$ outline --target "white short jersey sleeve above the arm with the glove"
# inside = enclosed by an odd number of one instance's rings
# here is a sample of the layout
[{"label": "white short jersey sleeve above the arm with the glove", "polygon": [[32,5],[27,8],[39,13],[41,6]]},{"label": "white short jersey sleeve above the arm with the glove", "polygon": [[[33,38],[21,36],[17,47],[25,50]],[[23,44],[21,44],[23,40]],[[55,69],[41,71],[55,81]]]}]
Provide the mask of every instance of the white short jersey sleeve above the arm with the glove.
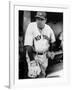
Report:
[{"label": "white short jersey sleeve above the arm with the glove", "polygon": [[25,40],[24,40],[24,46],[26,45],[33,45],[33,31],[32,31],[32,25],[29,24],[28,28],[25,33]]}]

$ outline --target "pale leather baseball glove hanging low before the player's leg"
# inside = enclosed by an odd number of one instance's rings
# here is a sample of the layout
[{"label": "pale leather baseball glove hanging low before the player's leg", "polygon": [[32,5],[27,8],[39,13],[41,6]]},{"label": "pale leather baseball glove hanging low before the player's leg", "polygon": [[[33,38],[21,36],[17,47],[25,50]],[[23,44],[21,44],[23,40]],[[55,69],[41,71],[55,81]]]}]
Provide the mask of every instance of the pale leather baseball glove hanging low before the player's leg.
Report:
[{"label": "pale leather baseball glove hanging low before the player's leg", "polygon": [[39,64],[34,60],[34,61],[30,61],[29,65],[28,65],[28,76],[29,77],[37,77],[37,75],[39,75],[41,72],[40,66]]}]

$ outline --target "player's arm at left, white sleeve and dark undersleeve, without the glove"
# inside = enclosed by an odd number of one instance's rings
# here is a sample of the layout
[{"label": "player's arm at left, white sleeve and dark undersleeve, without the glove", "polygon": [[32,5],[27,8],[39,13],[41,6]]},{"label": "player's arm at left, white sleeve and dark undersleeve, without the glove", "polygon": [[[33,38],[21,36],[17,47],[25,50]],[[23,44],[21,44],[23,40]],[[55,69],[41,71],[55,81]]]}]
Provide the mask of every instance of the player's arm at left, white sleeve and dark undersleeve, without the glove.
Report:
[{"label": "player's arm at left, white sleeve and dark undersleeve, without the glove", "polygon": [[28,53],[28,56],[30,58],[30,60],[34,60],[34,57],[33,57],[33,31],[32,31],[32,25],[29,24],[28,25],[28,28],[26,30],[26,33],[25,33],[25,42],[24,42],[24,46],[26,48],[26,51]]}]

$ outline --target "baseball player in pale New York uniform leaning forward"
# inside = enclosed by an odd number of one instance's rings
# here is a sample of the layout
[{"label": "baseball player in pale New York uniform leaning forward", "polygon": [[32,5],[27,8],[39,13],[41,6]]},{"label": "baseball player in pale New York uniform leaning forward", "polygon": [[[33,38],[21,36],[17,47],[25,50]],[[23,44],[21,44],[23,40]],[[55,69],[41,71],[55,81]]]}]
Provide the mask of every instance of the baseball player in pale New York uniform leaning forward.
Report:
[{"label": "baseball player in pale New York uniform leaning forward", "polygon": [[28,25],[24,42],[27,52],[28,76],[33,78],[41,73],[45,76],[45,70],[48,66],[49,43],[55,42],[54,32],[46,24],[46,13],[37,12],[35,17],[36,22]]}]

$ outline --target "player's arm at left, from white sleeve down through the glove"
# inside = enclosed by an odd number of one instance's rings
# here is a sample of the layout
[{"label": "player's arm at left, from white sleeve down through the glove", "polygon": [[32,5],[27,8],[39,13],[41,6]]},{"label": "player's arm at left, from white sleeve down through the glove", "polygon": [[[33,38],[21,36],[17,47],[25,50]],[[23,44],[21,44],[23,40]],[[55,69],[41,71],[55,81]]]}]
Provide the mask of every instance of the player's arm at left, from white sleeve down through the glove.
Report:
[{"label": "player's arm at left, from white sleeve down through the glove", "polygon": [[40,67],[36,64],[33,55],[33,25],[29,24],[26,34],[24,46],[26,47],[26,52],[28,54],[29,60],[28,63],[28,77],[37,77],[40,73]]}]

